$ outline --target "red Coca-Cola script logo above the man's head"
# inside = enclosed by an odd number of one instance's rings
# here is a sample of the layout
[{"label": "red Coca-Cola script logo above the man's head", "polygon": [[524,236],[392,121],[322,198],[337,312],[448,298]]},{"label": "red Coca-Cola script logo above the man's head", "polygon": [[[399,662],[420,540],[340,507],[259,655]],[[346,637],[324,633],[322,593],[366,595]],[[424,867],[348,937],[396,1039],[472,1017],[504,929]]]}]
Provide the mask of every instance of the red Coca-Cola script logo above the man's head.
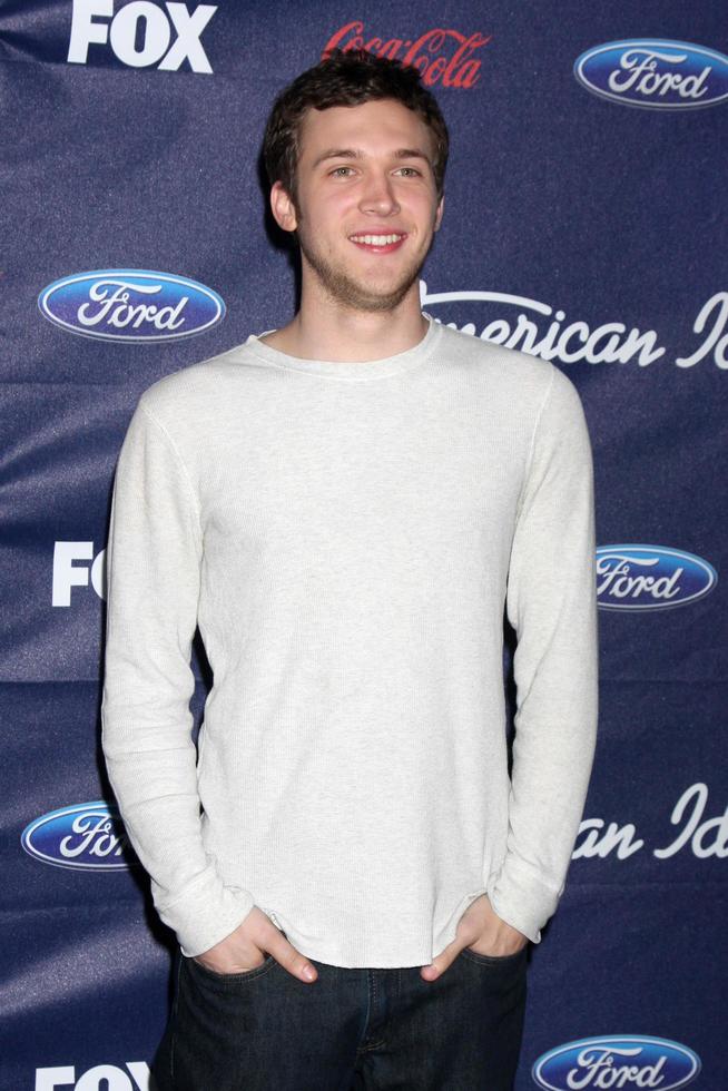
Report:
[{"label": "red Coca-Cola script logo above the man's head", "polygon": [[377,38],[364,29],[357,19],[340,27],[326,42],[322,60],[333,49],[364,49],[376,57],[412,65],[420,71],[422,82],[427,87],[441,83],[442,87],[471,88],[480,79],[482,61],[473,55],[486,46],[492,35],[475,31],[463,35],[459,30],[434,27],[417,38]]}]

